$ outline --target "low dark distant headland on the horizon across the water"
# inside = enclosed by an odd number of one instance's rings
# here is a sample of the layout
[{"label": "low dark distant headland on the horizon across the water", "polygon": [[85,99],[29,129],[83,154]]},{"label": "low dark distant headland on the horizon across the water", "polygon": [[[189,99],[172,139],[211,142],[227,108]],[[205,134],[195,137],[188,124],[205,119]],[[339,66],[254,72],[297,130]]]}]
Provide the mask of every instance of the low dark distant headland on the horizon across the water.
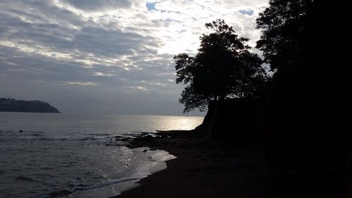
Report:
[{"label": "low dark distant headland on the horizon across the water", "polygon": [[24,101],[6,98],[0,98],[0,111],[60,113],[58,109],[44,101]]}]

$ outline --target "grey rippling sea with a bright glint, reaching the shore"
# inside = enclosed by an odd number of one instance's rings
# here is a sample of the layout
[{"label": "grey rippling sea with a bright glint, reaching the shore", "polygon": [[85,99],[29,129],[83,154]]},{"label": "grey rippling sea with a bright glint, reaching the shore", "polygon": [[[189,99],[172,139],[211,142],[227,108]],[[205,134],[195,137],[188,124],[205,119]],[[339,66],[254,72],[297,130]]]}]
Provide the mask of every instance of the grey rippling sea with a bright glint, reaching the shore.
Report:
[{"label": "grey rippling sea with a bright glint, reaching the shore", "polygon": [[[126,141],[203,117],[0,112],[0,197],[111,197],[175,156]],[[128,138],[129,137],[129,138]]]}]

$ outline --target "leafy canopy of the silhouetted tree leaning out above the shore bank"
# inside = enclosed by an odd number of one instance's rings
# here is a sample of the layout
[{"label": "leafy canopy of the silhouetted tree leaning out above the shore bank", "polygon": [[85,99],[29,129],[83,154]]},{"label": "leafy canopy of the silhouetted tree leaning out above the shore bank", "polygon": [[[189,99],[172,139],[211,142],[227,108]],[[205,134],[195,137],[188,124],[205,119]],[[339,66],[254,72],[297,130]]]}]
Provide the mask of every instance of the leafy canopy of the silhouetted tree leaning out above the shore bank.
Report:
[{"label": "leafy canopy of the silhouetted tree leaning out above the shore bank", "polygon": [[177,84],[187,85],[180,103],[184,112],[205,110],[210,101],[256,97],[265,81],[265,70],[257,54],[249,51],[248,38],[239,37],[224,20],[206,23],[212,30],[201,35],[196,56],[175,56]]}]

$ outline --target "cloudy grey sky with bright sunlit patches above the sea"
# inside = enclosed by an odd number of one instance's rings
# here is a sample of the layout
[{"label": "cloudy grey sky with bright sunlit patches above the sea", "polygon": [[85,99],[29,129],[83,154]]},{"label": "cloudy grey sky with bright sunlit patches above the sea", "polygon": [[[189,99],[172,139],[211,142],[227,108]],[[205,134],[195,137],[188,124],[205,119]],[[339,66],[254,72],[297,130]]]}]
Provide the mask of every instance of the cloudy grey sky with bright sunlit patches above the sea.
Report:
[{"label": "cloudy grey sky with bright sunlit patches above the sea", "polygon": [[[255,46],[266,0],[0,1],[0,97],[63,113],[182,115],[173,56],[224,19]],[[253,52],[260,54],[258,49]],[[189,115],[203,115],[199,111]]]}]

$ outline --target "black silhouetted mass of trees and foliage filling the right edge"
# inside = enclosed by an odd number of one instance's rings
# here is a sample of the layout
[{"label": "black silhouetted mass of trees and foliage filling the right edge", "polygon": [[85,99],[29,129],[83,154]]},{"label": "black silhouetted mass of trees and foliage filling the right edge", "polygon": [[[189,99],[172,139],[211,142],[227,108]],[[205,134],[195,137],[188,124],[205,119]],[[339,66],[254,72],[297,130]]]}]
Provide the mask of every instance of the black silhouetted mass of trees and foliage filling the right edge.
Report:
[{"label": "black silhouetted mass of trees and foliage filling the right edge", "polygon": [[352,197],[348,8],[270,0],[257,19],[257,47],[275,71],[266,97],[268,155],[286,180],[285,197]]}]

